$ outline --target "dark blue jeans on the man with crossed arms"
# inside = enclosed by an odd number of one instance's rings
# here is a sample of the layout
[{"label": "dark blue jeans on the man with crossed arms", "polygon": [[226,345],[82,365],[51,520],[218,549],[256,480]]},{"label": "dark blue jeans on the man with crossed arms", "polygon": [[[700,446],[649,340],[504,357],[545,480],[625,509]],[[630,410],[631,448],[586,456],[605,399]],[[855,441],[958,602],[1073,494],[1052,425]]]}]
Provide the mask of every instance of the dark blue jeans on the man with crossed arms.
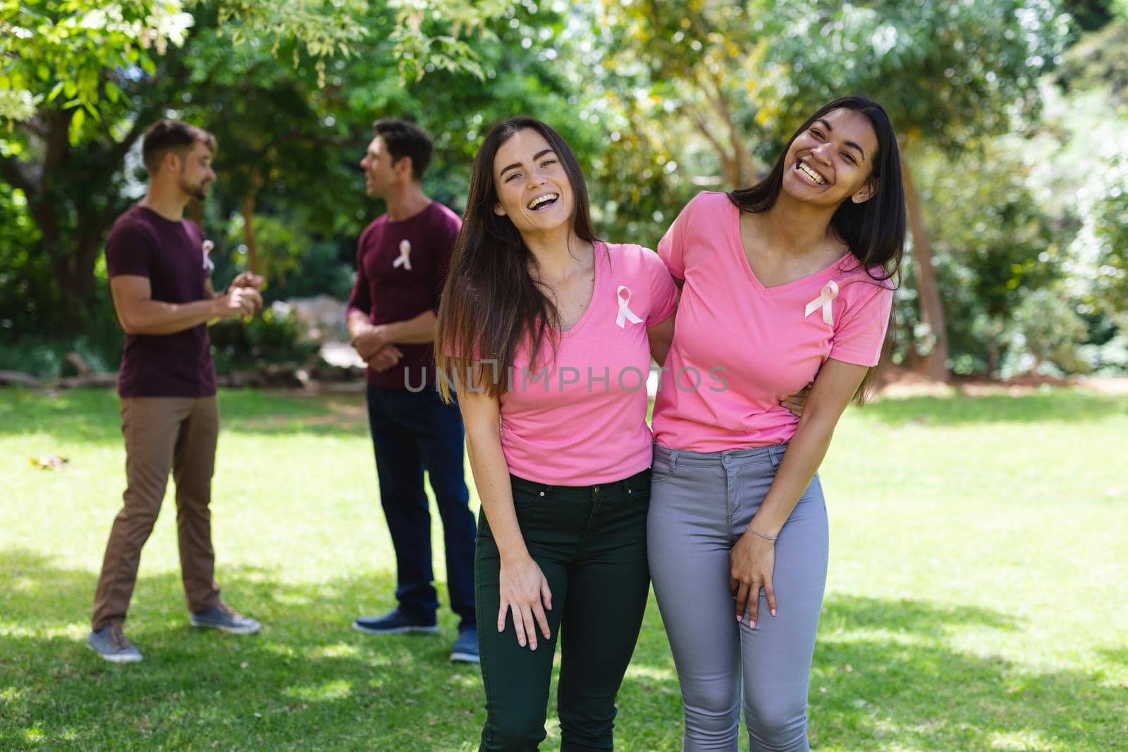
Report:
[{"label": "dark blue jeans on the man with crossed arms", "polygon": [[459,629],[475,625],[474,539],[462,463],[462,418],[433,388],[420,392],[368,386],[368,421],[376,452],[380,503],[396,549],[399,608],[433,621],[439,609],[431,568],[431,512],[426,470],[442,519],[450,608]]}]

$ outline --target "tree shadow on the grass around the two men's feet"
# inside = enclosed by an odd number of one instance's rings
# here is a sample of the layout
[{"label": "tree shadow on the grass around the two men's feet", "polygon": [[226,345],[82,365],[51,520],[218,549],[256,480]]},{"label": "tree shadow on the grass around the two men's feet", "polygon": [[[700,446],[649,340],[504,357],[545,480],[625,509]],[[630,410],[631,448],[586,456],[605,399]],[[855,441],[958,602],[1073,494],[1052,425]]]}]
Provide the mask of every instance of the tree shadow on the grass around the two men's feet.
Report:
[{"label": "tree shadow on the grass around the two men's feet", "polygon": [[282,585],[224,568],[224,600],[265,625],[235,637],[191,628],[179,575],[142,567],[126,634],[144,661],[115,665],[85,645],[95,573],[18,549],[0,572],[0,749],[459,750],[481,728],[449,611],[439,636],[352,629],[393,605],[386,573]]}]

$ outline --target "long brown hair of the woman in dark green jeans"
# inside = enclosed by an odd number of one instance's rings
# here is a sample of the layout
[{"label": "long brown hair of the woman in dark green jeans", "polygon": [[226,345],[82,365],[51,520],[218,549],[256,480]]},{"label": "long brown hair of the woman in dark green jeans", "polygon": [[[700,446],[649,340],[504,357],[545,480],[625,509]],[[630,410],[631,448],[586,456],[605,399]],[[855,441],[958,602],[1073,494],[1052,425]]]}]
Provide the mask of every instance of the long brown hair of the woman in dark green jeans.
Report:
[{"label": "long brown hair of the woman in dark green jeans", "polygon": [[[536,263],[532,251],[509,216],[494,212],[497,204],[494,157],[503,143],[525,129],[545,138],[567,174],[574,198],[572,229],[576,237],[588,242],[597,240],[583,170],[559,133],[526,116],[494,125],[474,158],[462,229],[455,240],[450,273],[439,303],[434,348],[440,372],[459,377],[475,373],[468,386],[482,387],[492,397],[505,391],[505,375],[522,338],[530,337],[529,357],[535,364],[546,335],[555,351],[556,342],[550,334],[559,328],[556,306],[529,274],[529,266]],[[492,374],[474,363],[487,359],[495,363]],[[443,399],[450,401],[449,382],[439,378],[438,386]]]}]

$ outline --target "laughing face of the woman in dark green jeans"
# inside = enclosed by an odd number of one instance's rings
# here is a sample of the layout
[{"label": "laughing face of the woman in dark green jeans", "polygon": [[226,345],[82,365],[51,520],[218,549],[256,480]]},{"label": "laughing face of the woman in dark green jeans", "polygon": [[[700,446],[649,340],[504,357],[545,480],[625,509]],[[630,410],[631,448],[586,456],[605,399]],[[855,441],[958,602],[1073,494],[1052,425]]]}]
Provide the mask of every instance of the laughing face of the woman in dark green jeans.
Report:
[{"label": "laughing face of the woman in dark green jeans", "polygon": [[572,222],[575,200],[564,166],[545,136],[521,129],[497,149],[493,163],[497,204],[522,235]]}]

